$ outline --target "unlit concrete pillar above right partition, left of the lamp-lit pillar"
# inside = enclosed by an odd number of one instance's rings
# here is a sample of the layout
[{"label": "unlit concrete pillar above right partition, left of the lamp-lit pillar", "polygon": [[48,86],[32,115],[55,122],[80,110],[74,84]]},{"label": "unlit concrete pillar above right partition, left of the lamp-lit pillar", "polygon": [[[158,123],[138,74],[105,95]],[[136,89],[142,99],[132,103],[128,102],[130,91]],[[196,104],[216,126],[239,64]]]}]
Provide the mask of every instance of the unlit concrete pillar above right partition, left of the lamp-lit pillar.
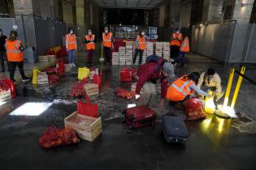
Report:
[{"label": "unlit concrete pillar above right partition, left of the lamp-lit pillar", "polygon": [[202,21],[219,21],[223,19],[223,0],[204,0]]}]

